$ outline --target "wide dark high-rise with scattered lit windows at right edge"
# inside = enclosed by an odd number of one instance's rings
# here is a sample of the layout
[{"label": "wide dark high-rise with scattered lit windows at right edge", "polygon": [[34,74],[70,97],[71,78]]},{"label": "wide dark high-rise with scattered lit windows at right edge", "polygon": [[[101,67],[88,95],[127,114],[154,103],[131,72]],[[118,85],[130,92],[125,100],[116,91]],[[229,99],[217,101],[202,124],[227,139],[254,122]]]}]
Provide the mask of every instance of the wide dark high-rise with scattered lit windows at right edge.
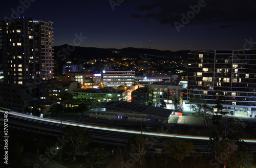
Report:
[{"label": "wide dark high-rise with scattered lit windows at right edge", "polygon": [[191,51],[188,57],[188,97],[216,105],[224,94],[223,111],[256,115],[256,49]]}]

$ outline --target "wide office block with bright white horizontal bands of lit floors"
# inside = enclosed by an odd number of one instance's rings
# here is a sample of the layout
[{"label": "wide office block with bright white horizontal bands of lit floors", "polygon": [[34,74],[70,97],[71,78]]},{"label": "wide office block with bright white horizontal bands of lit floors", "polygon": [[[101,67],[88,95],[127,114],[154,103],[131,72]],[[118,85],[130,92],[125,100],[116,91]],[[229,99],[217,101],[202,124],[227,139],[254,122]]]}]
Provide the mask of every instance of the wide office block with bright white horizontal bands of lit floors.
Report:
[{"label": "wide office block with bright white horizontal bands of lit floors", "polygon": [[130,87],[135,82],[135,71],[103,71],[103,85],[117,88],[121,85]]}]

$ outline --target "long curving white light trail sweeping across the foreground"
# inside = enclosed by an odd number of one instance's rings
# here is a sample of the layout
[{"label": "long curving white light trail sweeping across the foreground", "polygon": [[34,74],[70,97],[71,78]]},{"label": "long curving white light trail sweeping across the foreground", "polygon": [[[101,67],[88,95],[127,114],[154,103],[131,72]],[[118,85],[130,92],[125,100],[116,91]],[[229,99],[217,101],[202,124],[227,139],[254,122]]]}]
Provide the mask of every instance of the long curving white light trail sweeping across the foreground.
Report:
[{"label": "long curving white light trail sweeping across the foreground", "polygon": [[[5,113],[6,110],[1,110],[1,113]],[[69,122],[69,121],[60,121],[55,119],[49,119],[49,118],[42,118],[42,117],[36,117],[36,116],[30,116],[22,113],[17,113],[14,111],[8,111],[8,114],[26,118],[26,119],[33,119],[37,121],[44,121],[54,124],[62,124],[62,125],[71,125],[71,126],[80,126],[83,128],[90,128],[90,129],[97,129],[97,130],[105,130],[105,131],[112,131],[112,132],[121,132],[121,133],[131,133],[131,134],[144,134],[144,135],[151,135],[151,136],[163,136],[163,137],[177,137],[177,138],[185,138],[185,139],[197,139],[197,140],[205,140],[209,141],[208,136],[192,136],[192,135],[179,135],[179,134],[169,134],[169,133],[162,133],[162,132],[147,132],[147,131],[139,131],[139,130],[129,130],[129,129],[120,129],[120,128],[112,128],[112,127],[103,127],[103,126],[95,126],[90,124],[81,124],[76,122]],[[256,139],[241,139],[246,143],[256,143]]]}]

